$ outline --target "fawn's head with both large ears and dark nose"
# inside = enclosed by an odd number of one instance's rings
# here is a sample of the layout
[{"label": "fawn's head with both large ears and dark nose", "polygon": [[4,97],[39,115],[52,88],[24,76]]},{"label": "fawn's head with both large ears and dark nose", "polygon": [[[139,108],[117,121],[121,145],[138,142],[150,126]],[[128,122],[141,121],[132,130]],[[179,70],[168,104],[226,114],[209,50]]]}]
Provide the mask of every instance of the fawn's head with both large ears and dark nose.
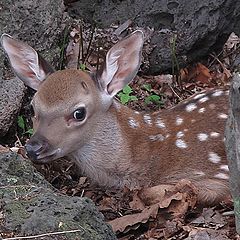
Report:
[{"label": "fawn's head with both large ears and dark nose", "polygon": [[26,150],[34,162],[66,156],[90,141],[116,93],[136,75],[143,33],[135,31],[107,53],[101,72],[53,68],[29,45],[7,34],[1,44],[15,74],[37,92],[32,100],[34,134]]}]

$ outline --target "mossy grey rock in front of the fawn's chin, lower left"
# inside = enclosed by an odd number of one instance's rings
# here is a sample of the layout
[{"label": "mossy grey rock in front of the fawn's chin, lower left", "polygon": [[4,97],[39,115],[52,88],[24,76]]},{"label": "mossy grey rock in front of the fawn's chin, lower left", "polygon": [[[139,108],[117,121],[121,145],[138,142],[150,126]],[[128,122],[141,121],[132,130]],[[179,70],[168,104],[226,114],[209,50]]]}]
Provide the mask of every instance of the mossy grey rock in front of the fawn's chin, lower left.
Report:
[{"label": "mossy grey rock in front of the fawn's chin, lower left", "polygon": [[57,192],[28,160],[15,153],[0,153],[0,162],[5,231],[18,236],[66,232],[48,234],[47,239],[116,239],[90,199]]}]

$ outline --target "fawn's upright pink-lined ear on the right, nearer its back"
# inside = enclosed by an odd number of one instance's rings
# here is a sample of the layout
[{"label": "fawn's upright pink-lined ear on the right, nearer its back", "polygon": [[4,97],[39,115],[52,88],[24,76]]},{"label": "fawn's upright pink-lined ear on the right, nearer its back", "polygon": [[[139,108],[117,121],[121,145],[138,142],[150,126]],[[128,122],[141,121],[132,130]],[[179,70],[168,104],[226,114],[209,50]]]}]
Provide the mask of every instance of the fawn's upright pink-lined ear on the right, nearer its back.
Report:
[{"label": "fawn's upright pink-lined ear on the right, nearer its back", "polygon": [[137,30],[108,51],[105,67],[98,81],[110,96],[116,95],[137,74],[143,42],[143,32]]}]

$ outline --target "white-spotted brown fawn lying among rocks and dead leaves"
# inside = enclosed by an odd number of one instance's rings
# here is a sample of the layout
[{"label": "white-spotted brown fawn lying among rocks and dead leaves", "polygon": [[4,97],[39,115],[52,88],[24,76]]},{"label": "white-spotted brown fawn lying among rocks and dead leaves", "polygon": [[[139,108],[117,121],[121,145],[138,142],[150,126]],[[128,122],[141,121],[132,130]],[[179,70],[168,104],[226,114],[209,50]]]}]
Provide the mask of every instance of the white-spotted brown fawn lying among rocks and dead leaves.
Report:
[{"label": "white-spotted brown fawn lying among rocks and dead leaves", "polygon": [[32,47],[3,34],[13,71],[36,90],[29,158],[44,164],[68,157],[106,188],[187,179],[200,204],[224,201],[230,194],[224,147],[229,91],[206,90],[153,113],[122,105],[115,96],[136,76],[143,44],[144,34],[136,30],[107,52],[101,70],[54,71]]}]

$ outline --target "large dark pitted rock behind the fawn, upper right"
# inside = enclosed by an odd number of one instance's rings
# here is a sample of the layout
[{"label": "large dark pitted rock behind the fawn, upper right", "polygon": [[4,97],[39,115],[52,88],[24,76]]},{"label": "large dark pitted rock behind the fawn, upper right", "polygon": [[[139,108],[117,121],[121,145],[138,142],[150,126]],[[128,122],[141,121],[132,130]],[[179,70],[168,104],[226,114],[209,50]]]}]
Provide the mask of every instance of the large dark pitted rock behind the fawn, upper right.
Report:
[{"label": "large dark pitted rock behind the fawn, upper right", "polygon": [[[229,34],[240,33],[240,2],[234,0],[101,0],[77,1],[68,7],[70,16],[96,22],[100,27],[122,24],[128,19],[136,26],[154,28],[150,64],[146,73],[171,72],[172,57],[180,67],[197,61],[214,50],[222,50]],[[170,42],[176,40],[176,50]],[[174,45],[174,44],[172,44]]]}]

